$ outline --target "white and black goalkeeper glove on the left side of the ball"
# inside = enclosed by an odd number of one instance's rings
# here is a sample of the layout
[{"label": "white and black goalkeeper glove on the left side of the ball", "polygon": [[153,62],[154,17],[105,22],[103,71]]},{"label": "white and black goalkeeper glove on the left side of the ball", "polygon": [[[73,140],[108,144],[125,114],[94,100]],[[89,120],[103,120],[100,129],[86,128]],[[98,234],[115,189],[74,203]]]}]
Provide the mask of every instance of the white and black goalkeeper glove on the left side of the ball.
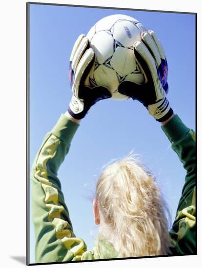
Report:
[{"label": "white and black goalkeeper glove on the left side of the ball", "polygon": [[110,98],[111,93],[104,86],[86,86],[90,73],[93,72],[95,54],[89,47],[89,40],[80,35],[76,40],[71,57],[69,78],[72,89],[72,99],[69,104],[68,112],[75,119],[83,118],[90,107],[97,101]]}]

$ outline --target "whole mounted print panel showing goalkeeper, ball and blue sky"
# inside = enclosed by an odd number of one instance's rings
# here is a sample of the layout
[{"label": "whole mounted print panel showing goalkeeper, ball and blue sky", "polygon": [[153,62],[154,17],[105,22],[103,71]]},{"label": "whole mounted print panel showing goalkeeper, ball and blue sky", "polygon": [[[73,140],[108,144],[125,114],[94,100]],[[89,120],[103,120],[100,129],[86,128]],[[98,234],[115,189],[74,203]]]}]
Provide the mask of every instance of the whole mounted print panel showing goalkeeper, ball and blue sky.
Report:
[{"label": "whole mounted print panel showing goalkeeper, ball and blue sky", "polygon": [[27,265],[196,255],[196,14],[27,3],[27,81]]}]

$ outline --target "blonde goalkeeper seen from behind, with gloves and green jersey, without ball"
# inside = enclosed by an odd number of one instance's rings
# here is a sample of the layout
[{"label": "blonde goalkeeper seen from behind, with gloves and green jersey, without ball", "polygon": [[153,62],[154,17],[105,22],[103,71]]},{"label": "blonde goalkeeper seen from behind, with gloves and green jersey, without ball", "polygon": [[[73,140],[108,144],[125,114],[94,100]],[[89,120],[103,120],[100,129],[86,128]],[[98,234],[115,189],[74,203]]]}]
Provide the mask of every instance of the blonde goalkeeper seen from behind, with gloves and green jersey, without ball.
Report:
[{"label": "blonde goalkeeper seen from behind, with gloves and green jersey, without ball", "polygon": [[[196,254],[195,133],[175,115],[167,100],[167,61],[155,33],[144,32],[134,44],[143,85],[124,81],[119,92],[140,101],[157,121],[186,170],[175,221],[168,231],[163,202],[154,176],[134,157],[109,165],[101,174],[93,202],[100,226],[94,249],[76,237],[57,172],[69,151],[81,119],[97,101],[111,97],[106,87],[84,86],[95,60],[81,35],[70,58],[73,96],[65,114],[46,134],[32,166],[32,206],[37,263],[121,257]],[[86,84],[86,83],[85,83]]]}]

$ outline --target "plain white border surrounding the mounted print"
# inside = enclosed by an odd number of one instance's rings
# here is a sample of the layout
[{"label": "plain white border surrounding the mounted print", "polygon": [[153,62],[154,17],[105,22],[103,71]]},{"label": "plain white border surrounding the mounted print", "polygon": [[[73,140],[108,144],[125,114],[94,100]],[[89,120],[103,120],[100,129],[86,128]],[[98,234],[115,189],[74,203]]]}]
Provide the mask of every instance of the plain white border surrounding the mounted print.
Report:
[{"label": "plain white border surrounding the mounted print", "polygon": [[[141,1],[113,1],[102,0],[96,3],[95,0],[38,0],[44,3],[62,3],[73,5],[101,5],[121,8],[134,9],[150,9],[150,10],[166,10],[180,12],[197,12],[198,13],[198,74],[202,74],[201,70],[201,28],[202,11],[200,1],[184,0],[184,1],[159,1],[159,0],[141,0]],[[25,176],[26,176],[26,135],[25,135],[25,94],[26,94],[26,1],[25,0],[9,0],[2,1],[0,8],[0,140],[1,140],[1,221],[0,221],[0,244],[1,244],[1,266],[2,267],[18,267],[24,266],[20,261],[23,260],[26,252],[26,219],[25,219]],[[173,29],[178,31],[178,27]],[[173,49],[175,49],[173,47]],[[198,89],[202,88],[200,76],[198,75]],[[198,90],[198,104],[201,98],[201,92]],[[198,122],[201,118],[201,108],[198,105]],[[198,136],[202,136],[201,126],[198,123]],[[198,156],[201,159],[201,139],[198,141]],[[201,169],[198,172],[198,189],[201,189]],[[198,190],[199,191],[199,190]],[[91,263],[74,263],[65,264],[66,266],[79,267],[180,267],[193,266],[198,267],[196,262],[200,261],[201,250],[201,210],[202,204],[200,191],[198,193],[198,256],[183,257],[167,257],[167,258],[149,258],[134,260],[119,260],[108,262],[91,262]],[[54,268],[56,265],[46,265],[40,267]]]}]

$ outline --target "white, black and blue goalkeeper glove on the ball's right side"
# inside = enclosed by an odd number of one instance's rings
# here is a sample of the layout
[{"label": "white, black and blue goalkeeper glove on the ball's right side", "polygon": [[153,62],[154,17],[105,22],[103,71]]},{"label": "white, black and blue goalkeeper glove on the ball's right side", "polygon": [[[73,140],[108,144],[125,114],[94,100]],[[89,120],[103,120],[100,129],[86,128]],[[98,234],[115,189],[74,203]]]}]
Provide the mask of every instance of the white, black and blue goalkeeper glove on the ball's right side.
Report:
[{"label": "white, black and blue goalkeeper glove on the ball's right side", "polygon": [[153,31],[143,32],[141,41],[135,42],[133,52],[145,77],[145,83],[140,85],[123,81],[118,91],[139,100],[150,115],[163,122],[173,114],[173,110],[166,97],[168,66],[160,40]]}]

